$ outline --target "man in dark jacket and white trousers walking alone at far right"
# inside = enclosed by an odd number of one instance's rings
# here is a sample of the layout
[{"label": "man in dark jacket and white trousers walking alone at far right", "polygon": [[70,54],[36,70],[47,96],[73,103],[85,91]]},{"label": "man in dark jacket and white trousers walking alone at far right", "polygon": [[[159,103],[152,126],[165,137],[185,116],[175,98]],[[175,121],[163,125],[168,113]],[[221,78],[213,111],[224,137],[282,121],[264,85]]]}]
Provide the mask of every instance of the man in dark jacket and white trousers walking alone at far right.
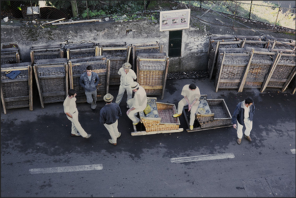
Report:
[{"label": "man in dark jacket and white trousers walking alone at far right", "polygon": [[245,126],[244,137],[248,141],[252,141],[250,133],[253,127],[253,116],[255,113],[255,105],[253,100],[247,97],[244,101],[240,102],[232,115],[233,128],[237,130],[238,144],[242,142],[242,128]]}]

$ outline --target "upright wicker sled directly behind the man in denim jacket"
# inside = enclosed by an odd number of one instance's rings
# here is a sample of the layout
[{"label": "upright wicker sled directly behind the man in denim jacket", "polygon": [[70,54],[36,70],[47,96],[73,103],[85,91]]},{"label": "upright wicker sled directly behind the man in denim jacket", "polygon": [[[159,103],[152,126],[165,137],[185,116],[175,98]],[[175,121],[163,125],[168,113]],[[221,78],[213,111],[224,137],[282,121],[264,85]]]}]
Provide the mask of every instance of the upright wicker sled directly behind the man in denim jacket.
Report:
[{"label": "upright wicker sled directly behind the man in denim jacket", "polygon": [[[92,61],[89,61],[92,60]],[[103,100],[104,95],[109,89],[109,59],[106,56],[87,57],[80,59],[69,60],[69,81],[70,88],[77,91],[76,102],[86,102],[85,90],[81,87],[79,80],[81,74],[86,72],[88,65],[92,66],[92,71],[99,76],[100,82],[97,86],[97,100]]]}]

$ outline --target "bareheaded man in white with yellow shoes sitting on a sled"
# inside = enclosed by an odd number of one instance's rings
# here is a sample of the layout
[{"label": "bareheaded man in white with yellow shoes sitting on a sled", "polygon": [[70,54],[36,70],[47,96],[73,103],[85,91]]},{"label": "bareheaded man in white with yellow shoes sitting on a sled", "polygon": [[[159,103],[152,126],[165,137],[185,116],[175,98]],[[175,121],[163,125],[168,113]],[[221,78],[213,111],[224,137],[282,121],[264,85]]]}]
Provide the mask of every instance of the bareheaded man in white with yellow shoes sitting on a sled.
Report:
[{"label": "bareheaded man in white with yellow shoes sitting on a sled", "polygon": [[200,91],[199,88],[194,85],[184,85],[181,95],[184,96],[178,103],[178,113],[173,114],[173,117],[178,117],[182,114],[184,106],[188,105],[188,112],[190,111],[189,129],[193,129],[193,123],[195,120],[195,113],[199,105]]}]

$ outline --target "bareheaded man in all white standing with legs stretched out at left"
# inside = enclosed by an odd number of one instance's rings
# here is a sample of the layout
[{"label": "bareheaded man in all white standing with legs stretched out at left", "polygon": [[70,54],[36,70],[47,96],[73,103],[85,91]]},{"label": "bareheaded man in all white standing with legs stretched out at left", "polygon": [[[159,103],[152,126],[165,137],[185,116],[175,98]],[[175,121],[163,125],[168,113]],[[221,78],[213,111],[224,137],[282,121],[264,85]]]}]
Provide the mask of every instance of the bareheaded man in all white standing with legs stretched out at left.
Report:
[{"label": "bareheaded man in all white standing with legs stretched out at left", "polygon": [[[78,110],[76,108],[76,91],[74,89],[69,89],[69,94],[64,100],[64,113],[66,113],[67,118],[71,121],[71,136],[78,137],[82,136],[83,138],[89,138],[91,134],[87,134],[84,129],[81,127],[80,122],[78,121]],[[77,133],[77,131],[79,133]]]}]

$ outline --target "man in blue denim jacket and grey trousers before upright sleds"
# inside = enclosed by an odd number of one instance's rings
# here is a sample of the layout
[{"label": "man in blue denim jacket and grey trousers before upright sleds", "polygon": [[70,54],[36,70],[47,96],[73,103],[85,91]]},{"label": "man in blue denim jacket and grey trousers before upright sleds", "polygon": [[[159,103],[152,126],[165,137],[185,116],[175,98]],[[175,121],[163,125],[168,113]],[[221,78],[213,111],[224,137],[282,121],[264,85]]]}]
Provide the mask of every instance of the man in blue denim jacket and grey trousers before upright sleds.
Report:
[{"label": "man in blue denim jacket and grey trousers before upright sleds", "polygon": [[100,78],[96,72],[92,72],[92,66],[86,67],[86,72],[81,74],[79,84],[84,88],[86,101],[91,104],[91,109],[96,112],[97,108],[97,85]]}]

